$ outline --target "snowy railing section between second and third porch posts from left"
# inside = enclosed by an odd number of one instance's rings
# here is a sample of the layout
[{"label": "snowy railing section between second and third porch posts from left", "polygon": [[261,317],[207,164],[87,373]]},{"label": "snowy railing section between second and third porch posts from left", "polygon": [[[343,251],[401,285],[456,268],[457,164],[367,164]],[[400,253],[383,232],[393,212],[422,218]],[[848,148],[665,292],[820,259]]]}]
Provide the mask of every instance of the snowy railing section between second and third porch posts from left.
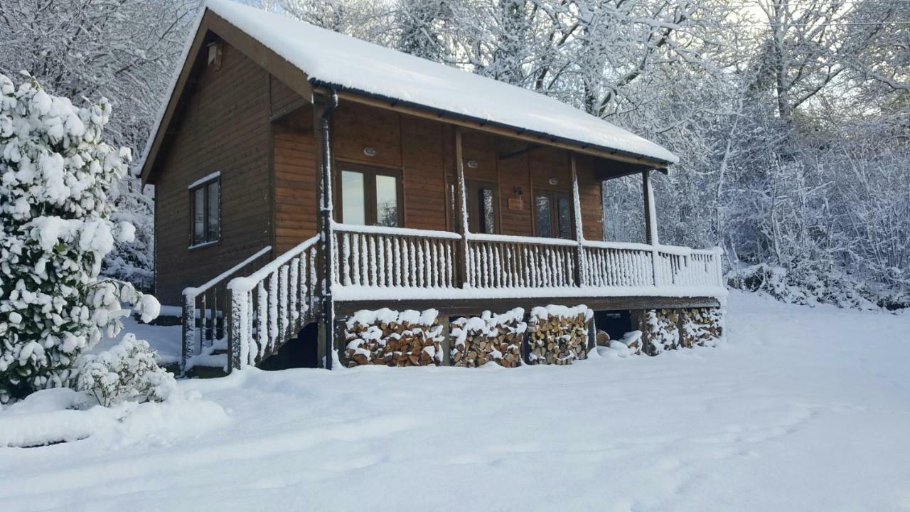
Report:
[{"label": "snowy railing section between second and third porch posts from left", "polygon": [[468,286],[574,286],[578,242],[507,235],[468,236]]}]

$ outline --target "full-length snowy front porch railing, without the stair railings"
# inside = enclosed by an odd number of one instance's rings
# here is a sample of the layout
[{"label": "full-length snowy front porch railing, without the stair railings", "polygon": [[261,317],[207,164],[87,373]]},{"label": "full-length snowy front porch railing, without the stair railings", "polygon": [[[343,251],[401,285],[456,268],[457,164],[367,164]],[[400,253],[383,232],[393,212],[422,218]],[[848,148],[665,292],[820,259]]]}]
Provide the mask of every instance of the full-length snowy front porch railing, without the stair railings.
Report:
[{"label": "full-length snowy front porch railing, without the stair railings", "polygon": [[[405,289],[722,288],[716,250],[336,224],[336,285]],[[586,291],[590,292],[590,291]],[[440,298],[443,298],[440,295]]]}]

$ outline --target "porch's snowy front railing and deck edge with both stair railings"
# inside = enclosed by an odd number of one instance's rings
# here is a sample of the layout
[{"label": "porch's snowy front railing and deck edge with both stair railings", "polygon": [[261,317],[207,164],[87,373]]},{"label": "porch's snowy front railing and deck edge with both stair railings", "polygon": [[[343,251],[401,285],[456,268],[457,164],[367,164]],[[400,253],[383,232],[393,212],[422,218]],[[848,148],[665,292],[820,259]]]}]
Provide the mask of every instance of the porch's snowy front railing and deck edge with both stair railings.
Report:
[{"label": "porch's snowy front railing and deck edge with both stair railings", "polygon": [[[546,303],[716,307],[724,293],[718,250],[334,222],[331,232],[330,267],[316,236],[246,277],[235,276],[269,248],[187,289],[184,364],[219,341],[227,342],[228,368],[259,364],[306,324],[322,321],[326,297],[342,317],[382,307],[455,316]],[[320,284],[327,270],[330,292]]]}]

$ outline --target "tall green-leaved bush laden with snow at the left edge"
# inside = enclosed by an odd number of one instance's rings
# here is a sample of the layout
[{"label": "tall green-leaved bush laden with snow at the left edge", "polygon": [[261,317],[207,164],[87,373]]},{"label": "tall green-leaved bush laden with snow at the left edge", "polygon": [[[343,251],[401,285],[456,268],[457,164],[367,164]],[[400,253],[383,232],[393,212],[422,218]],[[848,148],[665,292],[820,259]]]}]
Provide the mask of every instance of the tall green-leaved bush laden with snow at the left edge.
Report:
[{"label": "tall green-leaved bush laden with snow at the left edge", "polygon": [[121,300],[157,314],[154,297],[97,279],[115,240],[134,234],[110,219],[130,160],[102,137],[110,111],[0,75],[0,401],[65,384],[76,357],[119,330]]}]

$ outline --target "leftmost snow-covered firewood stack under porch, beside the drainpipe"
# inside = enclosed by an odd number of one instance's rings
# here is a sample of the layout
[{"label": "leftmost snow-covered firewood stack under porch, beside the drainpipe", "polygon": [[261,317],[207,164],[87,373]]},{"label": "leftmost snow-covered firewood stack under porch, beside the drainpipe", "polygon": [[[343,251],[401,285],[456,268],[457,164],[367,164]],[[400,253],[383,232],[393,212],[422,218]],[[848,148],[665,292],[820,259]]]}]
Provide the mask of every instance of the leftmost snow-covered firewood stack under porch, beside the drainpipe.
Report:
[{"label": "leftmost snow-covered firewood stack under porch, beside the drainpipe", "polygon": [[436,310],[359,311],[345,324],[345,364],[442,364],[442,326]]}]

